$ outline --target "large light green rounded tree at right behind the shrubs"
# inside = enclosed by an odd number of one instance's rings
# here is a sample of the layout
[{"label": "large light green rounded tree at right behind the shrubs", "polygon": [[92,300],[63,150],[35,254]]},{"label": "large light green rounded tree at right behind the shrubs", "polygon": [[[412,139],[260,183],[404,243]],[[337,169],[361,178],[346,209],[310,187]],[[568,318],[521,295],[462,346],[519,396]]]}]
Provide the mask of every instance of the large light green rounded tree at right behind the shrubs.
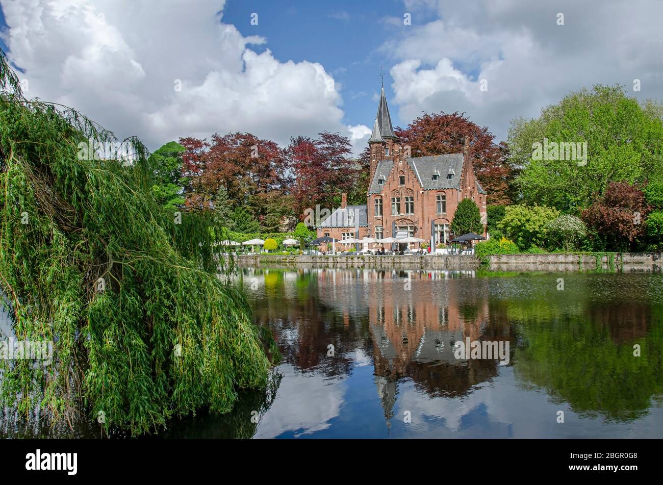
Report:
[{"label": "large light green rounded tree at right behind the shrubs", "polygon": [[[583,160],[535,160],[534,143],[587,143]],[[538,119],[516,120],[509,133],[518,186],[528,204],[561,211],[589,206],[609,182],[642,183],[663,172],[663,123],[619,86],[596,85],[564,97]],[[554,158],[554,157],[552,157]],[[558,157],[559,158],[559,157]],[[564,158],[564,157],[562,157]]]}]

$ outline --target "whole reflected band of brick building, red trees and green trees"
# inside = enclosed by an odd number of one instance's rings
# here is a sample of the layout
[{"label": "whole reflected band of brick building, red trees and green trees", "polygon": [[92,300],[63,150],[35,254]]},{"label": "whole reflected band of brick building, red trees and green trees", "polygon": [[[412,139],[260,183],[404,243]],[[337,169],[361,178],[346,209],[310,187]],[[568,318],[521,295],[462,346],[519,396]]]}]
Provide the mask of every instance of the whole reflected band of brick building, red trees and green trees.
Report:
[{"label": "whole reflected band of brick building, red trees and green trees", "polygon": [[[578,413],[635,419],[662,394],[663,311],[650,303],[650,280],[565,275],[567,290],[560,292],[551,274],[447,276],[300,270],[291,294],[274,290],[253,307],[302,372],[348,374],[349,350],[372,354],[387,421],[402,378],[430,396],[455,398],[497,376],[497,360],[453,357],[453,342],[465,337],[509,341],[516,380],[544,388]],[[650,291],[645,297],[643,288]],[[633,357],[636,343],[640,357]],[[327,356],[330,344],[335,358]]]}]

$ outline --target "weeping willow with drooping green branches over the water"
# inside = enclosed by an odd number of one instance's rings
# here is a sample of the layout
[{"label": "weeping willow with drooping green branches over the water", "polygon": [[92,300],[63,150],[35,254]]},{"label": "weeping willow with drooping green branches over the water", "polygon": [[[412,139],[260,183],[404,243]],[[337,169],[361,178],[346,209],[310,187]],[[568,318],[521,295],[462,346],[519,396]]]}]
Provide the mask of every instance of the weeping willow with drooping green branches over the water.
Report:
[{"label": "weeping willow with drooping green branches over the water", "polygon": [[0,294],[16,341],[53,345],[50,365],[0,359],[3,405],[138,435],[265,386],[271,336],[218,257],[214,217],[158,206],[137,138],[128,163],[95,159],[113,133],[26,99],[1,50],[0,88]]}]

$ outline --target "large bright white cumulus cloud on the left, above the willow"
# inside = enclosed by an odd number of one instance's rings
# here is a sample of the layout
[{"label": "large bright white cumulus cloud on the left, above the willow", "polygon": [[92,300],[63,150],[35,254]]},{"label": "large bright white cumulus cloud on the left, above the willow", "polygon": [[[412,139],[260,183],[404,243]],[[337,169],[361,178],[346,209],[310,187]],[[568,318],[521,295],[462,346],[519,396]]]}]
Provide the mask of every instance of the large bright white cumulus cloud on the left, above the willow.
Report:
[{"label": "large bright white cumulus cloud on the left, above the willow", "polygon": [[[340,87],[315,62],[282,62],[223,23],[223,1],[1,0],[9,58],[30,97],[75,107],[149,148],[249,131],[279,144],[346,127]],[[367,138],[367,137],[366,137]]]}]

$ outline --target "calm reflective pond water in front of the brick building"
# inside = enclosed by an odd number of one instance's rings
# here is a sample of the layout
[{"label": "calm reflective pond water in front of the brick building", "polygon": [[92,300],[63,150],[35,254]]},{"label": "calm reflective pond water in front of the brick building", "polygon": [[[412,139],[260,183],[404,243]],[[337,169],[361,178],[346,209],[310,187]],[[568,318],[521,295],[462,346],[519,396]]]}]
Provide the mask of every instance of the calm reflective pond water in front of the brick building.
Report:
[{"label": "calm reflective pond water in front of the brick building", "polygon": [[[237,284],[282,354],[269,388],[158,437],[663,437],[660,274],[241,268]],[[475,341],[503,354],[456,348]]]}]

